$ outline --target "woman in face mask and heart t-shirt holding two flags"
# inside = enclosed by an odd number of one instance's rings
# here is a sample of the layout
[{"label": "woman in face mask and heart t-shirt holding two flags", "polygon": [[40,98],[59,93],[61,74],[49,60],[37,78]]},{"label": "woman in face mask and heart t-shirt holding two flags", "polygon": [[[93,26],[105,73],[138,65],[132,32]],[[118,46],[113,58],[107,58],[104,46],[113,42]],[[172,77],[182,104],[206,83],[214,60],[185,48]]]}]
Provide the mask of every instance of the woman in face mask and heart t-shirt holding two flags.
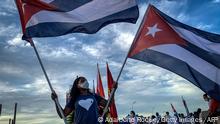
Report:
[{"label": "woman in face mask and heart t-shirt holding two flags", "polygon": [[[100,118],[98,120],[98,106],[103,106],[104,108],[107,100],[89,91],[89,83],[85,77],[77,77],[75,79],[70,96],[71,100],[63,109],[63,113],[64,116],[67,116],[74,112],[74,124],[88,124],[88,122],[89,124],[98,124],[102,121]],[[57,94],[53,92],[51,98],[55,100]],[[57,104],[56,108],[58,115],[61,117]]]}]

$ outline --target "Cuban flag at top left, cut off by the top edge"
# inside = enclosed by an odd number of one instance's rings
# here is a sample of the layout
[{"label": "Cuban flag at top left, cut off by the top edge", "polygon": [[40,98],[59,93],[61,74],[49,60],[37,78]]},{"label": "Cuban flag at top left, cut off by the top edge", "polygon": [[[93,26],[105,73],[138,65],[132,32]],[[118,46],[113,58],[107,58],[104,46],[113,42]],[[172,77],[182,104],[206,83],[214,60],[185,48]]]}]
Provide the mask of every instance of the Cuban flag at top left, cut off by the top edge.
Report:
[{"label": "Cuban flag at top left, cut off by the top edge", "polygon": [[136,23],[136,0],[15,0],[23,39],[96,33],[116,22]]}]

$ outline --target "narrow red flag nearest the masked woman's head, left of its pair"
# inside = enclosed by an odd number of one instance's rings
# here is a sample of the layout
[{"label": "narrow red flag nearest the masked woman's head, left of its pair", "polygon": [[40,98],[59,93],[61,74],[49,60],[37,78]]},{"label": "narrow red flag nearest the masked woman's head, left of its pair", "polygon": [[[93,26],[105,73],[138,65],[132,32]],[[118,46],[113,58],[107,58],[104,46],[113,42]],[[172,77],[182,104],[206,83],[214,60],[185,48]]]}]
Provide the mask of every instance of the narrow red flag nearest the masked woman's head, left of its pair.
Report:
[{"label": "narrow red flag nearest the masked woman's head, left of its pair", "polygon": [[100,74],[100,71],[99,71],[99,65],[98,64],[97,64],[97,70],[98,70],[98,73],[97,73],[96,93],[98,95],[100,95],[101,97],[105,98],[105,93],[104,93],[104,89],[103,89],[103,86],[102,86],[102,78],[101,78],[101,74]]}]

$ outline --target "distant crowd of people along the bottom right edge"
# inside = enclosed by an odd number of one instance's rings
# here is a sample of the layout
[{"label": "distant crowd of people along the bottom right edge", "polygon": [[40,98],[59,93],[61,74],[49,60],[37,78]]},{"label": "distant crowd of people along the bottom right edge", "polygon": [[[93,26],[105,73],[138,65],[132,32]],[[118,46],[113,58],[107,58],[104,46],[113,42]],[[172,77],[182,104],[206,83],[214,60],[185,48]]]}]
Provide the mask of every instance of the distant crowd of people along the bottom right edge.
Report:
[{"label": "distant crowd of people along the bottom right edge", "polygon": [[162,116],[156,112],[155,115],[148,117],[135,115],[135,112],[131,111],[130,114],[119,120],[119,122],[128,124],[214,124],[220,116],[220,103],[207,94],[203,95],[203,99],[208,102],[209,107],[208,111],[204,111],[205,113],[203,114],[201,108],[187,115],[177,112],[173,112],[174,114],[171,115],[169,112],[166,112]]}]

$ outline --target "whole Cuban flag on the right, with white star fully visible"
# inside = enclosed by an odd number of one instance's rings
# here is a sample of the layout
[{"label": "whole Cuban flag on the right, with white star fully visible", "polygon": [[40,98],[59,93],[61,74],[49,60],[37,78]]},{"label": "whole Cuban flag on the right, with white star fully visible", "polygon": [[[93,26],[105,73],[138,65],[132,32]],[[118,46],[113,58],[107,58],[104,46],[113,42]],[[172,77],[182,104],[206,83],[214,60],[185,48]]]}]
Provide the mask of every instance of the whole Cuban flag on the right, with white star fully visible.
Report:
[{"label": "whole Cuban flag on the right, with white star fully visible", "polygon": [[128,57],[170,70],[220,101],[220,35],[149,5]]}]

